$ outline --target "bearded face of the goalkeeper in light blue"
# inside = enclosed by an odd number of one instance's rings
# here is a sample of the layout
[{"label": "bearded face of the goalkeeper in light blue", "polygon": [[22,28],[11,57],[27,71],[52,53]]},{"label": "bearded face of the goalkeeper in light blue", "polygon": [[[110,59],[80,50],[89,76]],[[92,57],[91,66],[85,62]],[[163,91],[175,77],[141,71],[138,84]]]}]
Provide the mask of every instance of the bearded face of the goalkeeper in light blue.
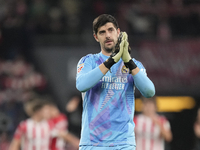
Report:
[{"label": "bearded face of the goalkeeper in light blue", "polygon": [[120,29],[116,29],[113,23],[106,23],[98,29],[94,37],[100,43],[101,49],[106,53],[111,53],[117,43]]}]

